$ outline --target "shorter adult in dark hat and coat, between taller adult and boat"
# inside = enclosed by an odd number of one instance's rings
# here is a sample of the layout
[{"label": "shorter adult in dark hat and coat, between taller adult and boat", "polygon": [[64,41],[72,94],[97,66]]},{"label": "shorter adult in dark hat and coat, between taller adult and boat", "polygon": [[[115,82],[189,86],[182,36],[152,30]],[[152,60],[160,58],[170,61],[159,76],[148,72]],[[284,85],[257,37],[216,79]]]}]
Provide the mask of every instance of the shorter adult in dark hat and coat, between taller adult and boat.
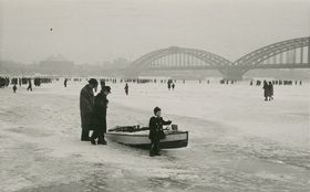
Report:
[{"label": "shorter adult in dark hat and coat, between taller adult and boat", "polygon": [[93,110],[94,131],[91,137],[91,143],[106,145],[104,134],[106,132],[106,108],[108,100],[106,96],[111,93],[110,86],[103,86],[101,93],[95,96]]}]

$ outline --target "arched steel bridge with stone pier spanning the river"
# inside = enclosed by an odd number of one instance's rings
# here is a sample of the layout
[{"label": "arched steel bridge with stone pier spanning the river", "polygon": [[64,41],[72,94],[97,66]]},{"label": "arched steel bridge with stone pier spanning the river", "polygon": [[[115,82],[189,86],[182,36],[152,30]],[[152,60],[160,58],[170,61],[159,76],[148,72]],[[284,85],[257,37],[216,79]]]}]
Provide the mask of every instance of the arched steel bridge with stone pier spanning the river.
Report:
[{"label": "arched steel bridge with stone pier spanning the river", "polygon": [[264,46],[235,62],[203,50],[170,46],[141,56],[125,75],[138,76],[145,71],[217,70],[225,78],[240,79],[255,68],[310,68],[310,36]]}]

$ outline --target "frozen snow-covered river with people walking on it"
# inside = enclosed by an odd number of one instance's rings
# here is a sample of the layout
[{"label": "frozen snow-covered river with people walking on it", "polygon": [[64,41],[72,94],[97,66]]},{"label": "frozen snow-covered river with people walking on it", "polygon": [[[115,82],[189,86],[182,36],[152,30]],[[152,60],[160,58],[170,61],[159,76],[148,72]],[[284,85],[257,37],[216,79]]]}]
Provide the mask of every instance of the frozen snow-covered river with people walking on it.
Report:
[{"label": "frozen snow-covered river with people walking on it", "polygon": [[275,86],[275,100],[248,82],[123,84],[112,87],[108,128],[147,125],[159,106],[189,131],[189,146],[148,151],[80,141],[79,94],[62,82],[28,93],[0,89],[0,191],[215,191],[310,189],[310,84]]}]

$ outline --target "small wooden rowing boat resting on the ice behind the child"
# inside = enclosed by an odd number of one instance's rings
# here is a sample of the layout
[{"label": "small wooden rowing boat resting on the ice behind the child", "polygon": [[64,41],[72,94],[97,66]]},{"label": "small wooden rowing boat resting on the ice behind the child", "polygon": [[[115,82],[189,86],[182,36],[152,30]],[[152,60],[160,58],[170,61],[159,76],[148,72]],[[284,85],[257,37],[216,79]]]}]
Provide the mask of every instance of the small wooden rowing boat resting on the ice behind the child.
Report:
[{"label": "small wooden rowing boat resting on the ice behind the child", "polygon": [[[151,140],[148,139],[148,127],[124,126],[108,129],[105,136],[108,140],[122,145],[149,149]],[[164,132],[166,137],[161,139],[159,142],[162,149],[187,147],[188,131],[179,131],[177,130],[177,125],[172,125],[172,129],[166,128]]]}]

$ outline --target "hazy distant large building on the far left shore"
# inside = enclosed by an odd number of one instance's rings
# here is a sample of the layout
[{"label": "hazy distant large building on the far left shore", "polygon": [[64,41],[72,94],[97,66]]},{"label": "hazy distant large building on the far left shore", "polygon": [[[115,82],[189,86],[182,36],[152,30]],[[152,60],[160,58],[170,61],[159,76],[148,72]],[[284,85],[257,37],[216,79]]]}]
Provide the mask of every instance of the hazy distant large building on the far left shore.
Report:
[{"label": "hazy distant large building on the far left shore", "polygon": [[74,71],[74,62],[65,60],[62,55],[50,56],[41,61],[39,66],[45,74],[66,75]]}]

